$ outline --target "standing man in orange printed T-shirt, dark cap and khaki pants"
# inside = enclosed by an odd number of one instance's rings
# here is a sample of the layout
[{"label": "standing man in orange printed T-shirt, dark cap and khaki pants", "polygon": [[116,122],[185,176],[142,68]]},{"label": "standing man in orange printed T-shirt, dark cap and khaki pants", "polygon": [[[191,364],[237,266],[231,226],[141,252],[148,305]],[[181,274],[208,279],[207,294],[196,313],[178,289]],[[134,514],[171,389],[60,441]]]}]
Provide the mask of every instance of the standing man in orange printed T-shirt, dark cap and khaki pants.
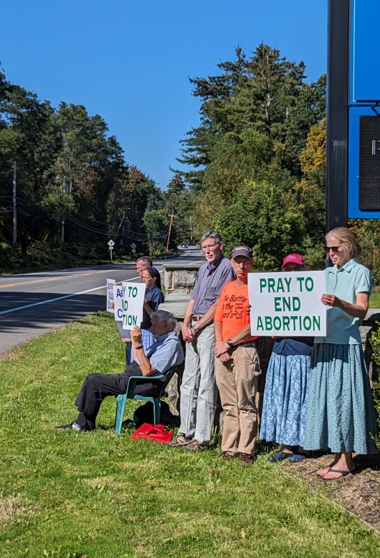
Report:
[{"label": "standing man in orange printed T-shirt, dark cap and khaki pants", "polygon": [[250,323],[246,309],[248,273],[253,266],[251,248],[236,246],[231,264],[236,280],[222,288],[214,317],[215,378],[226,411],[221,457],[226,460],[238,457],[243,465],[250,465],[257,435],[254,399],[261,370],[254,346],[257,338],[249,335],[238,341],[238,334]]}]

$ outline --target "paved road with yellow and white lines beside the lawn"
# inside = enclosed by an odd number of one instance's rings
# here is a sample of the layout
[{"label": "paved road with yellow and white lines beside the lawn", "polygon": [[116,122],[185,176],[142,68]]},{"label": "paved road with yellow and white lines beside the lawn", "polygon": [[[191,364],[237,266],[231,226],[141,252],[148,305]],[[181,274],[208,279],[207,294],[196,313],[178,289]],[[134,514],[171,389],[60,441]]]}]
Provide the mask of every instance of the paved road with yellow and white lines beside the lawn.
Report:
[{"label": "paved road with yellow and white lines beside the lawn", "polygon": [[[189,249],[180,261],[190,264],[202,259],[199,249]],[[159,271],[162,263],[154,262]],[[0,277],[0,353],[105,309],[107,278],[116,282],[138,280],[136,266],[89,266]]]}]

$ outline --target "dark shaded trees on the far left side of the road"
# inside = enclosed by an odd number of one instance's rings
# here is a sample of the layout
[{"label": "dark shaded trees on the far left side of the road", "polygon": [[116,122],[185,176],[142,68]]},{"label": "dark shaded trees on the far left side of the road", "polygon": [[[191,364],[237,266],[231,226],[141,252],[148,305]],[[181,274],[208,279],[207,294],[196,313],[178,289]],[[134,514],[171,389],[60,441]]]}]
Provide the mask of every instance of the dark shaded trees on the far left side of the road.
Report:
[{"label": "dark shaded trees on the far left side of the road", "polygon": [[[18,250],[10,248],[14,161]],[[185,197],[188,190],[181,178],[173,180],[181,183],[178,196]],[[162,193],[152,179],[126,163],[99,115],[89,116],[84,106],[66,103],[54,110],[48,101],[10,84],[0,71],[2,268],[21,262],[48,264],[57,250],[73,264],[107,257],[109,239],[116,241],[116,255],[130,252],[133,241],[137,252],[150,246],[162,252],[174,195],[176,190],[172,193],[169,186],[168,193]],[[144,217],[147,208],[152,211]]]}]

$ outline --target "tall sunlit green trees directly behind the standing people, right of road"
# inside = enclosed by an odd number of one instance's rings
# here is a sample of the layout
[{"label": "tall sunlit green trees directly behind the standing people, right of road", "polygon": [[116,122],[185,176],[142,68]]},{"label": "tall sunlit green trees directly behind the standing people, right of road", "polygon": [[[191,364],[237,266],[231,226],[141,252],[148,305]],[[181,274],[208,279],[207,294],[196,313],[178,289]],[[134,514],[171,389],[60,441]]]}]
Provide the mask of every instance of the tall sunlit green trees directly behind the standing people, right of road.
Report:
[{"label": "tall sunlit green trees directly behind the standing people, right of road", "polygon": [[198,234],[215,227],[227,249],[248,243],[266,269],[289,250],[321,263],[325,76],[307,84],[303,62],[264,43],[218,68],[190,80],[201,120],[178,159],[191,167],[182,175],[197,196]]}]

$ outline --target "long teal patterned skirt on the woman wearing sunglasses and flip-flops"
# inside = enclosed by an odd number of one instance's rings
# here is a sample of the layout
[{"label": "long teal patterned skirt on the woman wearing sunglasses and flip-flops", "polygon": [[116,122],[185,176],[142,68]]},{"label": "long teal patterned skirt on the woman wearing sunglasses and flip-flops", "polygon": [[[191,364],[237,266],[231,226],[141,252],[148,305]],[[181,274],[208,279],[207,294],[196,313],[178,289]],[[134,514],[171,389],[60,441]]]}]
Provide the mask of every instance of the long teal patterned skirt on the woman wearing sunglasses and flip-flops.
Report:
[{"label": "long teal patterned skirt on the woman wearing sunglasses and flip-flops", "polygon": [[317,343],[307,388],[305,449],[377,453],[370,379],[361,345]]}]

